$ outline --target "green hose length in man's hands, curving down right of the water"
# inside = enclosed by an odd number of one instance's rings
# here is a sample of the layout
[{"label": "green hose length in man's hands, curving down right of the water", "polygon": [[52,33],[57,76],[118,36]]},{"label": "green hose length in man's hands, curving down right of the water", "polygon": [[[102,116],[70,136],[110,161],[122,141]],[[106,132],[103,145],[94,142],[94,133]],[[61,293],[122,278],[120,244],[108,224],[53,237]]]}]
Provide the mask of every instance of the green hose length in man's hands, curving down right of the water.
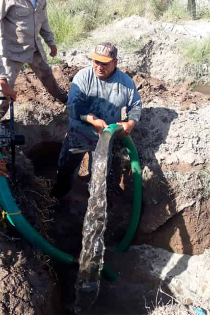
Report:
[{"label": "green hose length in man's hands, curving down right of the water", "polygon": [[[104,132],[109,132],[111,136],[114,136],[122,131],[122,126],[118,124],[110,124],[107,128],[103,129]],[[142,203],[142,178],[141,169],[139,162],[139,155],[135,144],[130,136],[123,137],[122,142],[127,150],[130,158],[130,164],[132,167],[132,175],[134,180],[134,201],[133,201],[133,212],[130,219],[129,225],[127,227],[126,233],[116,247],[117,252],[124,252],[132,242],[136,229],[139,224],[140,214],[141,214],[141,203]]]}]

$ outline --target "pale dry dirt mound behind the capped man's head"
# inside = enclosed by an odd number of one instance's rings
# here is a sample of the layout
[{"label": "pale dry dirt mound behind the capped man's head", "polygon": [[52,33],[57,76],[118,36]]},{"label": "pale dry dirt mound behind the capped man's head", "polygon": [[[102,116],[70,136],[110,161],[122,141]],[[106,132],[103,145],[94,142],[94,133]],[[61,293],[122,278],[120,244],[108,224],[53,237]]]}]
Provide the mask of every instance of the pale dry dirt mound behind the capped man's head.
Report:
[{"label": "pale dry dirt mound behind the capped man's head", "polygon": [[[209,25],[209,22],[203,21],[203,30],[198,40],[203,33],[209,35],[204,30],[206,24]],[[195,22],[193,28],[198,33],[199,27],[202,24]],[[161,21],[150,22],[138,15],[130,16],[95,30],[87,40],[63,51],[61,58],[69,66],[85,67],[92,62],[89,55],[94,48],[93,42],[111,40],[118,48],[120,67],[128,66],[132,71],[147,72],[150,76],[172,83],[184,83],[189,79],[209,82],[208,64],[195,65],[180,53],[180,43],[195,35],[193,28],[192,25],[170,25]]]}]

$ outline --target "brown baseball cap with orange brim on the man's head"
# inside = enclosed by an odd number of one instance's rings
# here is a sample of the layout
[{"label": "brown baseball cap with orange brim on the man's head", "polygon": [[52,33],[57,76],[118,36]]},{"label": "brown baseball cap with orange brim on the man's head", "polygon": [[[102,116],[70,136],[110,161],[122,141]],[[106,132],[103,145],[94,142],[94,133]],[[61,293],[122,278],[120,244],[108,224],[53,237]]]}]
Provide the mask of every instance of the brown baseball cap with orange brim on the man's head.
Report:
[{"label": "brown baseball cap with orange brim on the man's head", "polygon": [[100,43],[95,46],[95,52],[90,55],[91,59],[110,62],[117,57],[117,48],[110,42]]}]

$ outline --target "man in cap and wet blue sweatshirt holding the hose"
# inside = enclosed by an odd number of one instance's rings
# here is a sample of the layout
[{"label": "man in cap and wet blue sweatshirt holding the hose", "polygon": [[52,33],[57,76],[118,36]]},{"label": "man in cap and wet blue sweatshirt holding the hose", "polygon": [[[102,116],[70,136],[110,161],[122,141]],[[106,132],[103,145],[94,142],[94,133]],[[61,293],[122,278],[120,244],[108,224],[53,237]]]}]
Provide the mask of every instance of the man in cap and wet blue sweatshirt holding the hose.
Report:
[{"label": "man in cap and wet blue sweatshirt holding the hose", "polygon": [[71,189],[74,171],[87,151],[94,151],[103,128],[123,127],[127,136],[138,124],[142,102],[133,80],[117,68],[117,48],[110,42],[95,47],[93,65],[77,72],[69,91],[69,128],[58,164],[51,196],[60,198]]}]

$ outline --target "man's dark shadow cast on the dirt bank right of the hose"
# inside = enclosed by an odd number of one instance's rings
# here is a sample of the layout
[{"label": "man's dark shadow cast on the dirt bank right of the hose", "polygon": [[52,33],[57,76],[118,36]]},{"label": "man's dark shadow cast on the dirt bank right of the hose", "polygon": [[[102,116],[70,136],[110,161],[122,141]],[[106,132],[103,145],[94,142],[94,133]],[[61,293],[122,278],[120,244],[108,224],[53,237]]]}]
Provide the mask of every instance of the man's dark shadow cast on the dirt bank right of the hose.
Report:
[{"label": "man's dark shadow cast on the dirt bank right of the hose", "polygon": [[[177,113],[168,108],[144,108],[140,124],[132,135],[143,170],[143,203],[134,244],[148,244],[174,252],[171,238],[175,229],[178,229],[180,245],[176,248],[176,252],[192,255],[192,244],[182,212],[178,213],[175,192],[165,176],[168,167],[165,159],[169,154],[166,154],[163,147],[167,143],[171,123],[176,118]],[[132,187],[131,176],[125,175],[125,191],[130,190],[130,187]],[[168,284],[173,277],[187,269],[189,258],[190,256],[181,256],[177,264],[165,276],[163,287],[169,294],[171,292]],[[167,263],[166,259],[165,266]],[[170,299],[161,294],[159,294],[159,298],[166,303]]]}]

